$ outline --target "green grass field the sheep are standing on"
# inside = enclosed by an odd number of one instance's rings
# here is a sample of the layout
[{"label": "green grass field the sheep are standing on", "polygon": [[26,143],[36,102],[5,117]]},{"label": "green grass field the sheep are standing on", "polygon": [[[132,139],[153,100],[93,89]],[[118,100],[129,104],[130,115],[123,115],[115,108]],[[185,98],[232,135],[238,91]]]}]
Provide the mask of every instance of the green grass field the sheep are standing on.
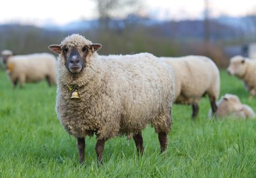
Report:
[{"label": "green grass field the sheep are standing on", "polygon": [[[241,81],[224,71],[221,79],[221,95],[234,93],[256,110],[256,98],[248,100]],[[191,107],[174,105],[164,154],[148,127],[143,157],[137,157],[133,140],[114,138],[106,142],[98,168],[95,138],[86,138],[86,167],[79,166],[76,140],[55,114],[55,93],[46,82],[13,90],[0,72],[1,177],[256,177],[256,120],[210,121],[207,98],[195,122]]]}]

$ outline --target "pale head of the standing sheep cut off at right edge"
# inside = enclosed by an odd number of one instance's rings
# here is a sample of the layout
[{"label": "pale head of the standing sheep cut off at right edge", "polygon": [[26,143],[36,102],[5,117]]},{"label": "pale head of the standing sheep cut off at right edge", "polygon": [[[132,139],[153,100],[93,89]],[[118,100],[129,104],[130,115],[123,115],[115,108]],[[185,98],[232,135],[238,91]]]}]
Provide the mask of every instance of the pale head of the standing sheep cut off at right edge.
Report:
[{"label": "pale head of the standing sheep cut off at right edge", "polygon": [[237,77],[243,77],[246,73],[247,59],[242,56],[234,56],[230,59],[230,65],[227,72],[229,75],[236,75]]}]

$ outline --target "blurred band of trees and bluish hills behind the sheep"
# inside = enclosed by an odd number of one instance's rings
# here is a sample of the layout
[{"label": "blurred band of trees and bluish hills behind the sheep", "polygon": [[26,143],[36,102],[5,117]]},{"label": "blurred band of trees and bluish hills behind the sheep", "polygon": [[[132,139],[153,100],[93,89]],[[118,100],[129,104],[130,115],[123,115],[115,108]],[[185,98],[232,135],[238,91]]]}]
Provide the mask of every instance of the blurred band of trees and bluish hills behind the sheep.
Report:
[{"label": "blurred band of trees and bluish hills behind the sheep", "polygon": [[[204,55],[218,66],[225,67],[228,58],[224,46],[253,41],[243,30],[207,19],[207,44],[203,20],[154,21],[139,17],[143,7],[135,0],[97,0],[98,26],[89,29],[47,30],[18,24],[0,26],[0,50],[14,54],[50,52],[50,44],[59,44],[63,38],[78,33],[95,43],[102,44],[99,54],[134,54],[150,52],[156,56]],[[121,11],[120,11],[121,9]],[[120,16],[121,18],[115,18]],[[255,23],[255,16],[251,17]],[[255,23],[256,27],[256,23]],[[253,31],[255,32],[255,31]]]}]

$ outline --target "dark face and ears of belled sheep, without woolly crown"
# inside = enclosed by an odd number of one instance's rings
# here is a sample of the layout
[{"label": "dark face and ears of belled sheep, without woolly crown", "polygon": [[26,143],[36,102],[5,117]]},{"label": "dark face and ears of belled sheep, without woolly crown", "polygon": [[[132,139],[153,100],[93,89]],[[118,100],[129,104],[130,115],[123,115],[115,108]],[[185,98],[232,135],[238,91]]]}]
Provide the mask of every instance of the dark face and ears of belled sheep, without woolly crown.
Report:
[{"label": "dark face and ears of belled sheep, without woolly crown", "polygon": [[65,60],[65,65],[67,70],[71,74],[80,73],[86,66],[86,57],[88,54],[96,52],[96,50],[101,48],[100,44],[90,44],[84,46],[59,46],[51,45],[49,46],[51,50],[61,54]]}]

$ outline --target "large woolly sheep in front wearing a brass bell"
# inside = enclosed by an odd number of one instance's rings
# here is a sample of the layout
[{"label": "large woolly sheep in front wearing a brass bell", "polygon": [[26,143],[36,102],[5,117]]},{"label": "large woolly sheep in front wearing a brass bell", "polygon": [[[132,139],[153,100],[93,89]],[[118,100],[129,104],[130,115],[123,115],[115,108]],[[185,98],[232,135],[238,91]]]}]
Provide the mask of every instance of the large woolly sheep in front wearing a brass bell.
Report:
[{"label": "large woolly sheep in front wearing a brass bell", "polygon": [[141,130],[151,124],[166,150],[172,124],[172,68],[149,53],[100,56],[101,44],[72,34],[49,46],[57,60],[56,112],[69,134],[77,138],[79,163],[84,163],[86,136],[96,134],[97,163],[106,140],[133,137],[143,153]]}]

